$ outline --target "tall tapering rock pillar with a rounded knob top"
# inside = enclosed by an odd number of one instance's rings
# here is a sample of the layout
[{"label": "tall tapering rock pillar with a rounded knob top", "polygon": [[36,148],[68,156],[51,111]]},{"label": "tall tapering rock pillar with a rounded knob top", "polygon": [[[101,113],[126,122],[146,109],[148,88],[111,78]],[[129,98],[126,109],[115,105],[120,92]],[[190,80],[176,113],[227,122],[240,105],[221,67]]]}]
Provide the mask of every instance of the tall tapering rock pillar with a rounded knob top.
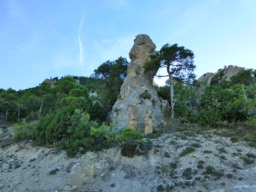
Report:
[{"label": "tall tapering rock pillar with a rounded knob top", "polygon": [[167,101],[160,99],[153,86],[155,72],[144,73],[144,63],[155,53],[155,44],[148,35],[140,34],[130,51],[131,63],[121,86],[120,96],[113,105],[110,120],[119,129],[131,128],[146,134],[166,124]]}]

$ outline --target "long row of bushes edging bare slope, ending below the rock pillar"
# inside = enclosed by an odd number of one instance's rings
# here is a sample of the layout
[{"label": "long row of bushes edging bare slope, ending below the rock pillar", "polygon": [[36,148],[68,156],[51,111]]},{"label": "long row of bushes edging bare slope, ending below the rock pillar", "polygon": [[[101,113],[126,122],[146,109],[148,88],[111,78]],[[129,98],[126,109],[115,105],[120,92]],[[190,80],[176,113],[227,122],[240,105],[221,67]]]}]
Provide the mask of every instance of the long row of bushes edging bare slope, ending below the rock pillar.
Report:
[{"label": "long row of bushes edging bare slope, ending below the rock pillar", "polygon": [[73,114],[49,113],[37,123],[23,120],[15,125],[15,139],[33,139],[39,145],[63,148],[70,157],[117,144],[122,146],[121,154],[127,157],[147,153],[151,148],[142,133],[131,129],[117,131],[114,125],[99,126],[80,109],[75,109]]}]

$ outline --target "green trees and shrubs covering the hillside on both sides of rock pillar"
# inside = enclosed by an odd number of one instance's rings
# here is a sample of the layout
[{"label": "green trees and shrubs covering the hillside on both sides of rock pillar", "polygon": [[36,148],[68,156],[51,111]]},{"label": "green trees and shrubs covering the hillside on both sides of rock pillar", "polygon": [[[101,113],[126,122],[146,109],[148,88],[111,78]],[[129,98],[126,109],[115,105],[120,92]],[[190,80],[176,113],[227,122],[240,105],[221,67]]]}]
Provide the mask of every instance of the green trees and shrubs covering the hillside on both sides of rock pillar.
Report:
[{"label": "green trees and shrubs covering the hillside on both sides of rock pillar", "polygon": [[[15,140],[32,139],[39,145],[61,147],[70,156],[116,143],[130,143],[126,148],[131,153],[137,146],[148,148],[143,134],[117,131],[115,125],[108,125],[108,113],[119,96],[127,66],[126,59],[119,57],[104,62],[90,77],[66,76],[27,90],[0,90],[0,121],[15,124]],[[242,70],[227,80],[224,69],[219,69],[210,84],[179,79],[173,82],[176,120],[162,131],[178,128],[174,122],[179,119],[185,125],[201,125],[202,130],[226,127],[230,135],[237,137],[239,133],[256,147],[255,70]],[[170,101],[168,85],[155,88],[160,97]],[[162,131],[153,131],[147,137],[156,137]]]}]

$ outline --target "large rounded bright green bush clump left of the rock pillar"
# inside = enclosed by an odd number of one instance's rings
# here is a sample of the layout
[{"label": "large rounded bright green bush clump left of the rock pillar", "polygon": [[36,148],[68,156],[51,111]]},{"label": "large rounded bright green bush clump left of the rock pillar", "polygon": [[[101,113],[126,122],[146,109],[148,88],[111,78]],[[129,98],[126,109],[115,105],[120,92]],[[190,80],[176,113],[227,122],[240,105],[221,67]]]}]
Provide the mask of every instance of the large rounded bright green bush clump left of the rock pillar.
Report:
[{"label": "large rounded bright green bush clump left of the rock pillar", "polygon": [[33,137],[38,144],[56,144],[73,156],[108,148],[114,141],[115,131],[113,126],[98,126],[82,109],[67,106],[40,119]]}]

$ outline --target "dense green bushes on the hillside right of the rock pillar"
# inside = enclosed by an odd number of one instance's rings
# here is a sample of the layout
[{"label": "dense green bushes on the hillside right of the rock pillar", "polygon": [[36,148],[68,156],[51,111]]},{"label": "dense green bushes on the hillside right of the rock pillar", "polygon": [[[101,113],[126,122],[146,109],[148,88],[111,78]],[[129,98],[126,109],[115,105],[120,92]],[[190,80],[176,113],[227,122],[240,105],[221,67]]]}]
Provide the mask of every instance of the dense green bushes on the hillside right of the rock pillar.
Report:
[{"label": "dense green bushes on the hillside right of the rock pillar", "polygon": [[[175,114],[191,123],[216,127],[222,122],[247,122],[255,126],[256,72],[242,70],[224,79],[224,69],[219,69],[211,84],[174,82]],[[204,89],[201,89],[201,86]],[[168,86],[156,87],[159,96],[169,101]],[[204,91],[201,91],[204,90]]]}]

